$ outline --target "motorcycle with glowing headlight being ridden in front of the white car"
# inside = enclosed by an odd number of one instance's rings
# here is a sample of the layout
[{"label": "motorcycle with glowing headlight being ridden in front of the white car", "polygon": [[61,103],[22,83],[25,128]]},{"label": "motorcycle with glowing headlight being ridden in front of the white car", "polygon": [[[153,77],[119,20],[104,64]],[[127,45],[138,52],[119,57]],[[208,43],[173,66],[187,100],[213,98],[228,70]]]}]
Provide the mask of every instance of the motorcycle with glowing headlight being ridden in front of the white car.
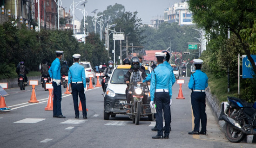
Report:
[{"label": "motorcycle with glowing headlight being ridden in front of the white car", "polygon": [[[127,75],[127,74],[126,74]],[[150,105],[149,104],[142,104],[143,103],[143,96],[148,95],[148,85],[147,83],[129,83],[129,88],[132,88],[132,91],[129,91],[128,93],[131,94],[131,104],[125,104],[130,105],[130,108],[126,108],[123,105],[123,108],[128,111],[130,110],[130,113],[127,113],[129,118],[133,120],[133,123],[138,125],[140,123],[140,118],[148,116],[149,121],[154,120],[154,114],[151,112]],[[130,89],[128,89],[130,90]]]}]

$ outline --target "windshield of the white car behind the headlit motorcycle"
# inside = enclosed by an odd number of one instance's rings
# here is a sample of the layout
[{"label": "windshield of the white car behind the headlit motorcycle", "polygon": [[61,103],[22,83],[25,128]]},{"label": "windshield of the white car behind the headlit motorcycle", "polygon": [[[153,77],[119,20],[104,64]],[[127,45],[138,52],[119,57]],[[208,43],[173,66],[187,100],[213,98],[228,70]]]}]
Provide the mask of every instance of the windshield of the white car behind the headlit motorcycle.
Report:
[{"label": "windshield of the white car behind the headlit motorcycle", "polygon": [[115,69],[112,73],[110,83],[112,84],[126,84],[124,82],[124,75],[128,72],[129,69]]}]

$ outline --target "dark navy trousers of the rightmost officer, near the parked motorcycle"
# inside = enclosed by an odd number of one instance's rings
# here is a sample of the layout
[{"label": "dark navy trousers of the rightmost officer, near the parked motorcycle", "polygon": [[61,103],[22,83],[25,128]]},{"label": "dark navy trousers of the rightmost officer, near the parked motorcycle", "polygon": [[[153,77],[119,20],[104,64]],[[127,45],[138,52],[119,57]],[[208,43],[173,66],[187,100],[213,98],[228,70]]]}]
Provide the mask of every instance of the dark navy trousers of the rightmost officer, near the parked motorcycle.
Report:
[{"label": "dark navy trousers of the rightmost officer, near the parked motorcycle", "polygon": [[206,131],[207,117],[205,113],[205,106],[206,106],[205,92],[192,92],[190,96],[191,96],[192,110],[195,117],[194,131],[199,131],[200,120],[201,120],[202,131]]}]

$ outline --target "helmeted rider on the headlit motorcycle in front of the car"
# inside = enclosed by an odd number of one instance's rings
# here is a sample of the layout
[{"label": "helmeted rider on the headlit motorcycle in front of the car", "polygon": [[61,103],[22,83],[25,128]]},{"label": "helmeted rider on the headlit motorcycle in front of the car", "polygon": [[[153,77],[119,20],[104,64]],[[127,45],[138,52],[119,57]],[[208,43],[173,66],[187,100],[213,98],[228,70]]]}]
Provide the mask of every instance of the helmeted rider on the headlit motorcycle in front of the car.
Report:
[{"label": "helmeted rider on the headlit motorcycle in front of the car", "polygon": [[[141,68],[140,66],[140,60],[138,57],[133,57],[131,59],[131,65],[132,68],[130,70],[128,70],[127,75],[128,77],[124,78],[124,81],[128,84],[130,81],[131,82],[142,82],[142,80],[144,80],[144,78],[147,77],[146,72]],[[131,94],[128,93],[128,91],[130,91],[131,88],[129,89],[128,87],[125,90],[125,94],[126,94],[126,99],[127,99],[127,103],[130,104],[131,103]],[[143,97],[143,104],[147,103],[147,96]],[[129,105],[125,106],[126,108],[130,108]],[[129,113],[130,110],[127,110],[127,113]]]}]

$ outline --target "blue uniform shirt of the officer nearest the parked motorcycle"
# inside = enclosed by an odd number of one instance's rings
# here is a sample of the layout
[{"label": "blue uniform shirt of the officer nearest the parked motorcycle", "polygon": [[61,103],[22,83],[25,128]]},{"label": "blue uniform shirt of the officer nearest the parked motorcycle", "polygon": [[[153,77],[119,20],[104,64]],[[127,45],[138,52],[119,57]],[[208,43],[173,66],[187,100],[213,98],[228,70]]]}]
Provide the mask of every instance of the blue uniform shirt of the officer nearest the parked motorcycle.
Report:
[{"label": "blue uniform shirt of the officer nearest the parked motorcycle", "polygon": [[[189,85],[188,85],[189,89],[205,90],[205,88],[208,87],[207,75],[203,73],[200,69],[195,70],[195,73],[193,75],[191,74],[190,76]],[[195,79],[195,83],[193,78]]]}]

